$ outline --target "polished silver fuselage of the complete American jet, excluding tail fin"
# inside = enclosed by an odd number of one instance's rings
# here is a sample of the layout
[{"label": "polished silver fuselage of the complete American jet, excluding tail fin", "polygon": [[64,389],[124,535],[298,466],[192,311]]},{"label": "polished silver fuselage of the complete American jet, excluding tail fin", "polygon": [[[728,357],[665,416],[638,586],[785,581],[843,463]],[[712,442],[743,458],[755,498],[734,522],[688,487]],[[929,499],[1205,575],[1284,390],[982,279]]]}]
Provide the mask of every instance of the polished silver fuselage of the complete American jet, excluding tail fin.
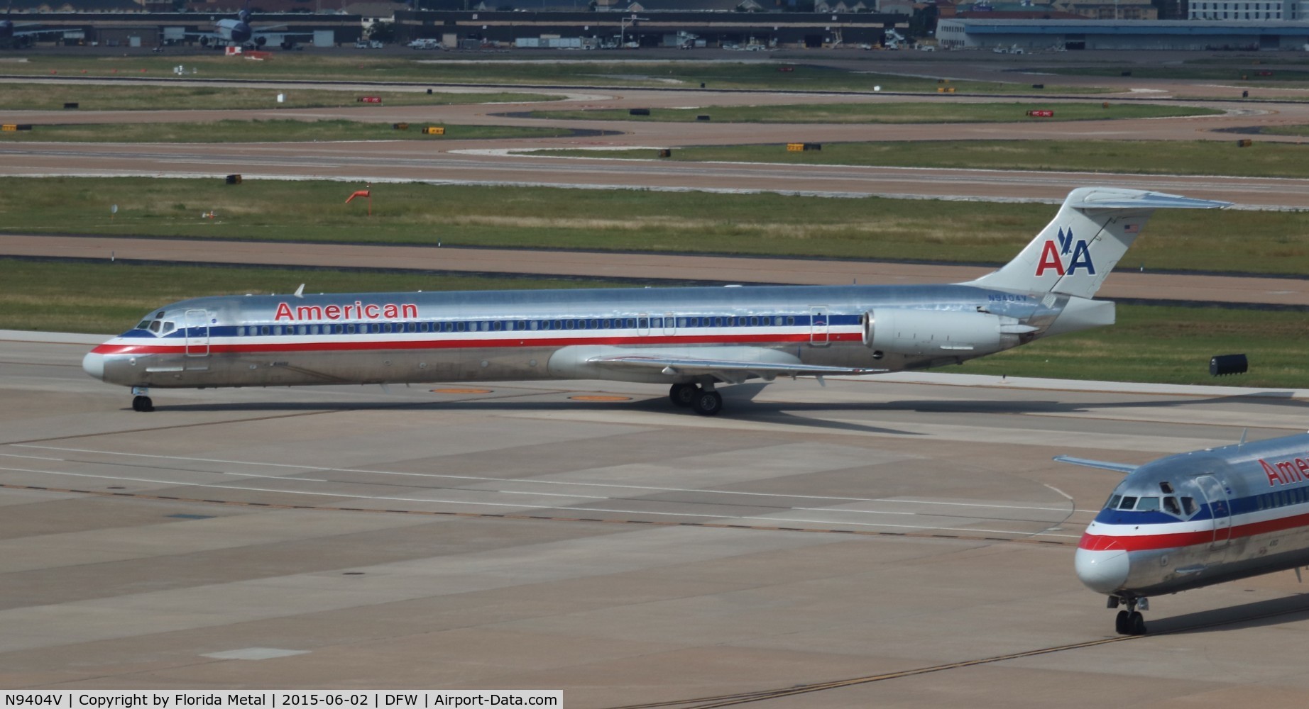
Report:
[{"label": "polished silver fuselage of the complete American jet, excluding tail fin", "polygon": [[[1113,303],[969,285],[418,292],[195,298],[143,326],[154,322],[158,331],[137,327],[93,351],[99,378],[134,387],[694,379],[594,364],[647,352],[893,372],[1109,324]],[[961,330],[982,335],[963,341]]]}]

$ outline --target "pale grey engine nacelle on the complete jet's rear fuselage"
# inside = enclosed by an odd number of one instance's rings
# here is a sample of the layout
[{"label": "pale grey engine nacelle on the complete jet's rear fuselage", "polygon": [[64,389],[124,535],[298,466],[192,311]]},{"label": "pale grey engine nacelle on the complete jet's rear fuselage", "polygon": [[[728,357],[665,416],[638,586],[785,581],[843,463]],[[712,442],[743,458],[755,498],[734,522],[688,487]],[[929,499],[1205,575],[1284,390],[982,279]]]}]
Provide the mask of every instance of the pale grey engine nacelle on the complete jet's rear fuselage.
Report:
[{"label": "pale grey engine nacelle on the complete jet's rear fuselage", "polygon": [[[864,313],[864,347],[897,354],[982,354],[1017,344],[1013,318],[963,310],[878,309]],[[1012,340],[1012,341],[1005,341]]]}]

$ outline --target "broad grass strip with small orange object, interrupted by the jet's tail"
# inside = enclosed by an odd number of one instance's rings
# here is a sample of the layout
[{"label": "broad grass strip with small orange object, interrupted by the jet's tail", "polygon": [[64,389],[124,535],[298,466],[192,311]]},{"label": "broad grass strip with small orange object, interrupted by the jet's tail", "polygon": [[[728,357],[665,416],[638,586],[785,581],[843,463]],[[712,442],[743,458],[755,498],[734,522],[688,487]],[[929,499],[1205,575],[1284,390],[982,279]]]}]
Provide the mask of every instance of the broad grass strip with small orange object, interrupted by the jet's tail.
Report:
[{"label": "broad grass strip with small orange object, interrupted by the jet's tail", "polygon": [[[3,178],[0,232],[1004,263],[1047,204],[373,184],[373,216],[313,181]],[[110,205],[118,215],[111,218]],[[217,218],[200,218],[215,211]],[[1161,211],[1124,266],[1309,273],[1309,212]]]}]

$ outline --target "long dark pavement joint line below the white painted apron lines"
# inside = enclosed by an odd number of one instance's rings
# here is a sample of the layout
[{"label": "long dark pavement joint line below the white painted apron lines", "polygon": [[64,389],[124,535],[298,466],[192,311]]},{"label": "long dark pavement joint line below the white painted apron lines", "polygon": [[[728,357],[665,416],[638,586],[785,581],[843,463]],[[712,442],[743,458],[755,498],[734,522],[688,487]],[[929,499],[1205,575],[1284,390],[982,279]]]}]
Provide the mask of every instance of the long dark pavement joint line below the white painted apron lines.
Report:
[{"label": "long dark pavement joint line below the white painted apron lines", "polygon": [[[39,472],[39,471],[37,471]],[[853,534],[860,536],[902,536],[911,539],[950,539],[959,542],[1004,542],[1016,544],[1046,544],[1046,545],[1059,545],[1069,547],[1075,542],[1060,542],[1055,539],[1035,539],[1029,532],[1004,532],[1013,534],[1013,538],[1003,536],[982,536],[982,535],[967,535],[967,534],[931,534],[931,532],[890,532],[890,531],[873,531],[873,530],[834,530],[834,528],[804,528],[804,527],[775,527],[775,526],[755,526],[755,525],[733,525],[725,522],[673,522],[673,521],[658,521],[658,519],[615,519],[615,518],[598,518],[598,517],[554,517],[554,515],[534,515],[534,514],[505,514],[505,513],[474,513],[474,511],[448,511],[448,510],[397,510],[397,509],[374,509],[374,508],[344,508],[344,506],[331,506],[331,505],[285,505],[274,502],[247,502],[241,500],[212,500],[212,498],[199,498],[199,497],[177,497],[165,494],[148,494],[136,492],[107,492],[107,491],[84,491],[76,488],[51,488],[45,485],[17,485],[12,483],[0,483],[0,489],[16,489],[16,491],[41,491],[41,492],[55,492],[55,493],[68,493],[68,494],[93,494],[99,497],[131,497],[136,500],[164,500],[169,502],[191,502],[191,504],[209,504],[209,505],[224,505],[232,508],[266,508],[266,509],[283,509],[283,510],[315,510],[315,511],[361,511],[372,514],[410,514],[410,515],[423,515],[423,517],[459,517],[466,519],[533,519],[545,522],[598,522],[605,525],[647,525],[656,527],[707,527],[707,528],[728,528],[728,530],[749,530],[749,531],[796,531],[804,534]],[[272,491],[278,492],[278,491]],[[685,515],[683,515],[685,517]],[[682,704],[682,702],[679,702]]]}]

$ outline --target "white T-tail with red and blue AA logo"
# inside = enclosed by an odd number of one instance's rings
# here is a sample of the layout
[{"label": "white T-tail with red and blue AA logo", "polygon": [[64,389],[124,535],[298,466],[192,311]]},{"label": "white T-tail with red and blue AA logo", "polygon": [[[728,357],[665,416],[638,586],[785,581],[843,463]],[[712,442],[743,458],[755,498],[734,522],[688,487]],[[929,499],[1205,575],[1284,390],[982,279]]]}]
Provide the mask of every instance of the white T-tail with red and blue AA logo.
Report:
[{"label": "white T-tail with red and blue AA logo", "polygon": [[1229,201],[1144,190],[1079,187],[1012,262],[965,285],[1090,298],[1155,209],[1216,209]]}]

